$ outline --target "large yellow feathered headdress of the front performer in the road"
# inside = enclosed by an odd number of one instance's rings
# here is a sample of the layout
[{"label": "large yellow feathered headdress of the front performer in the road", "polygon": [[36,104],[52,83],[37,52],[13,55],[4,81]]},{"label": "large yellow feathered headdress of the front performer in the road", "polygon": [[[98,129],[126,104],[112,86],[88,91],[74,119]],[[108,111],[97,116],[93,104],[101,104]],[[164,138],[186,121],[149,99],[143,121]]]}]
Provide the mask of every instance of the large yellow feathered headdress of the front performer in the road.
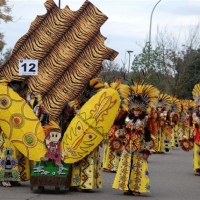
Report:
[{"label": "large yellow feathered headdress of the front performer in the road", "polygon": [[146,84],[136,83],[130,86],[130,91],[131,93],[128,98],[129,110],[138,108],[142,111],[146,111],[148,107],[151,107],[152,104],[155,103],[159,95],[157,88]]}]

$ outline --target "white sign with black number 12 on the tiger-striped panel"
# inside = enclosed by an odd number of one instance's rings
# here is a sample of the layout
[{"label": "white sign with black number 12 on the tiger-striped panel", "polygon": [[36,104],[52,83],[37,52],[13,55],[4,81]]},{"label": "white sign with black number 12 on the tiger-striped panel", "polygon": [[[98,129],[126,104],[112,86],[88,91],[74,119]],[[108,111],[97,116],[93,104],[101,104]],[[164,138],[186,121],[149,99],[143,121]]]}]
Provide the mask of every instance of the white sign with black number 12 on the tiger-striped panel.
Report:
[{"label": "white sign with black number 12 on the tiger-striped panel", "polygon": [[38,60],[19,60],[19,75],[38,75]]}]

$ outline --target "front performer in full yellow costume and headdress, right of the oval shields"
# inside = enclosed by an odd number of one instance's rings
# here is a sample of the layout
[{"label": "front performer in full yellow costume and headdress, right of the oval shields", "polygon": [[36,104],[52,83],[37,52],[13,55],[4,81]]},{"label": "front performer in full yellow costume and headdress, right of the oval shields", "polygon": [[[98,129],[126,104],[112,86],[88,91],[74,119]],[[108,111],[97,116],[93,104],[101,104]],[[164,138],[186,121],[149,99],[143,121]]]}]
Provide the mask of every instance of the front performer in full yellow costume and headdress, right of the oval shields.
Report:
[{"label": "front performer in full yellow costume and headdress, right of the oval shields", "polygon": [[128,118],[125,127],[124,149],[112,187],[124,195],[139,196],[150,192],[147,159],[150,155],[150,132],[147,108],[155,102],[158,90],[151,85],[136,83],[130,86]]}]

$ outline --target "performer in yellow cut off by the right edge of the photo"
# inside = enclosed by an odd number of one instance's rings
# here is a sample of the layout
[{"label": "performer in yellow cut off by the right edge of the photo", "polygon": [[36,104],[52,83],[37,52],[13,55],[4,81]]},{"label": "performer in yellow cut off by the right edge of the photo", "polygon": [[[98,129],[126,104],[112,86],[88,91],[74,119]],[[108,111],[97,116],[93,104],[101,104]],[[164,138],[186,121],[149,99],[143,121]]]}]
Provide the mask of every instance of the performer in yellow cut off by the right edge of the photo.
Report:
[{"label": "performer in yellow cut off by the right edge of the photo", "polygon": [[200,84],[196,84],[192,91],[195,102],[195,112],[193,118],[193,169],[196,176],[200,176]]}]

